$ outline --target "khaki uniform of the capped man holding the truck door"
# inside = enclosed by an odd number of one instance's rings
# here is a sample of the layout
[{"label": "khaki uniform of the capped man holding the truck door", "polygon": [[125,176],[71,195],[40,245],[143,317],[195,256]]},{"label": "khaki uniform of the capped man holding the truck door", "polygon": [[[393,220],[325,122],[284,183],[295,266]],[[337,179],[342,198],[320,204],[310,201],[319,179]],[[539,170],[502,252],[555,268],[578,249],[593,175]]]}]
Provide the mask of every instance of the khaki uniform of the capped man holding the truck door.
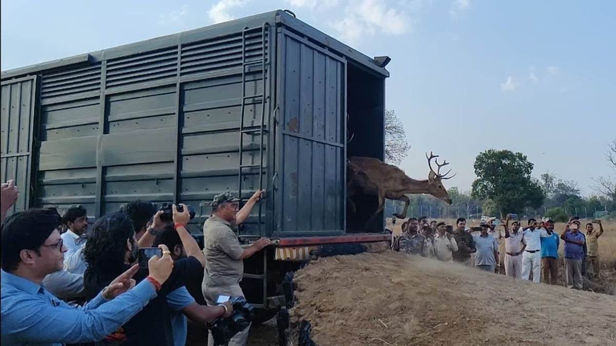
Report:
[{"label": "khaki uniform of the capped man holding the truck door", "polygon": [[[203,223],[203,253],[205,254],[205,273],[201,290],[208,305],[216,305],[218,296],[244,296],[240,281],[244,273],[244,262],[240,259],[244,249],[233,232],[233,225],[216,215],[211,215]],[[246,345],[248,328],[235,334],[230,346]],[[211,334],[208,345],[214,345]]]}]

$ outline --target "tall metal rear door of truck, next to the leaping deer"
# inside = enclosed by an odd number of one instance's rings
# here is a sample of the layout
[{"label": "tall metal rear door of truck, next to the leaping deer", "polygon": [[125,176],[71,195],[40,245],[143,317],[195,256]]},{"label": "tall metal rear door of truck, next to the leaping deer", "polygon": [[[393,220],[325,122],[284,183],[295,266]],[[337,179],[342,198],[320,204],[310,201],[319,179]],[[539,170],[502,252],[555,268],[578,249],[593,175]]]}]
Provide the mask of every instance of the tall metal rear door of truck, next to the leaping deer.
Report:
[{"label": "tall metal rear door of truck, next to the leaping deer", "polygon": [[274,236],[345,224],[346,60],[278,29]]}]

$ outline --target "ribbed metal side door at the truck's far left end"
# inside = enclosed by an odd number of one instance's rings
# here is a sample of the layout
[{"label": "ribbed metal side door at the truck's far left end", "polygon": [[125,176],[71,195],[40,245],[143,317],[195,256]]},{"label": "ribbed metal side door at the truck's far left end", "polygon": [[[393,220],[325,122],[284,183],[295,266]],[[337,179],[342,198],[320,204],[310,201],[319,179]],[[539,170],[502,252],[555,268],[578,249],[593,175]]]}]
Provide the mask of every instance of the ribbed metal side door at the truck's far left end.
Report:
[{"label": "ribbed metal side door at the truck's far left end", "polygon": [[1,182],[15,180],[19,198],[7,215],[30,206],[30,174],[33,150],[33,123],[38,78],[28,76],[2,82]]}]

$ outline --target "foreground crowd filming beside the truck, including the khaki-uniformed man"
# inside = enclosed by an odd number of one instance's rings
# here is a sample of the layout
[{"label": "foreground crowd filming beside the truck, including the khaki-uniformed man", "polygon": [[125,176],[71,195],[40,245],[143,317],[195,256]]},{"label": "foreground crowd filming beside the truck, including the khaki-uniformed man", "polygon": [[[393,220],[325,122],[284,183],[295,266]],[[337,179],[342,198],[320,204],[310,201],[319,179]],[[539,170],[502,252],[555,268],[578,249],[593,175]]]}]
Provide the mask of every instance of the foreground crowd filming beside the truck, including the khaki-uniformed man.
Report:
[{"label": "foreground crowd filming beside the truck, including the khaki-uniformed man", "polygon": [[[131,202],[89,230],[83,206],[62,216],[46,208],[6,217],[18,190],[12,180],[3,183],[2,345],[185,345],[187,318],[205,324],[229,317],[233,306],[217,297],[244,296],[242,261],[270,241],[242,247],[232,228],[261,196],[257,191],[241,209],[230,193],[215,196],[201,251],[184,204],[182,211],[174,204],[172,220],[163,222],[154,204]],[[162,255],[140,267],[143,247]],[[248,329],[229,345],[245,345]]]}]

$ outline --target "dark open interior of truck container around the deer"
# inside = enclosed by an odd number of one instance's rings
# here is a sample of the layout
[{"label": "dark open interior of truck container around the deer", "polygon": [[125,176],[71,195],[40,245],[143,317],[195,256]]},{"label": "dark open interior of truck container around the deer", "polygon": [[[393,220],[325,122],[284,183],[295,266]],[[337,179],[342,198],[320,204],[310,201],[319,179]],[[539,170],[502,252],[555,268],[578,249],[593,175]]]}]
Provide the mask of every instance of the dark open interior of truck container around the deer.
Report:
[{"label": "dark open interior of truck container around the deer", "polygon": [[[347,65],[347,158],[366,156],[383,159],[385,79],[362,68]],[[347,203],[349,233],[379,233],[384,229],[383,212],[367,224],[378,207],[376,196],[353,199],[355,212]]]}]

